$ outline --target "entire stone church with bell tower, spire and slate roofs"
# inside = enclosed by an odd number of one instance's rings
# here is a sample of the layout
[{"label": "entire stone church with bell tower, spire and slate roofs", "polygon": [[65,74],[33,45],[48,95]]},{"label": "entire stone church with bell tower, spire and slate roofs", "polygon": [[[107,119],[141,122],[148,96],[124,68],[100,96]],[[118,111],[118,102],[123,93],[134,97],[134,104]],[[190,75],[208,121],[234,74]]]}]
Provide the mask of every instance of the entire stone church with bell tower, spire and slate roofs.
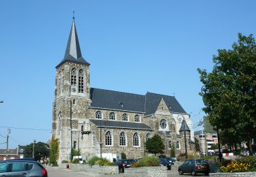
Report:
[{"label": "entire stone church with bell tower, spire and slate roofs", "polygon": [[175,155],[186,147],[194,150],[193,122],[173,96],[138,95],[91,88],[89,63],[81,54],[74,20],[63,60],[56,67],[52,135],[59,142],[59,159],[70,159],[71,149],[84,159],[102,153],[125,152],[143,157],[145,142],[158,134],[165,155],[175,146]]}]

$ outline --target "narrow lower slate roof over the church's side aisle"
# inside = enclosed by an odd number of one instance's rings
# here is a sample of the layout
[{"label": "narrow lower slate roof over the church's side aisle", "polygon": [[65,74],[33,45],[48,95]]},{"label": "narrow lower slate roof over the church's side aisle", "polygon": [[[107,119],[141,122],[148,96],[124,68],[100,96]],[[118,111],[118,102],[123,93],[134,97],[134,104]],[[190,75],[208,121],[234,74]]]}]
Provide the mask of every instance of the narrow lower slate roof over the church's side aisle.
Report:
[{"label": "narrow lower slate roof over the church's side aisle", "polygon": [[104,120],[104,119],[89,119],[91,123],[94,123],[96,127],[106,128],[117,128],[117,129],[139,129],[139,130],[150,130],[153,129],[145,125],[144,123],[131,123],[117,120]]}]

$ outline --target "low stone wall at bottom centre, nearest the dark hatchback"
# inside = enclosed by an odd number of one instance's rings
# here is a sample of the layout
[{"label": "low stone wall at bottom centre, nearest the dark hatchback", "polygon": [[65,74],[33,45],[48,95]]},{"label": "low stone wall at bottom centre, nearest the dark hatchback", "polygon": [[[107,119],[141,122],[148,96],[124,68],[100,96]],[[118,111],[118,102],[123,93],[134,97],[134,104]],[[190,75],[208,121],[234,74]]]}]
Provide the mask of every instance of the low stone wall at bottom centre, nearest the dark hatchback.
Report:
[{"label": "low stone wall at bottom centre, nearest the dark hatchback", "polygon": [[167,167],[130,167],[124,169],[124,176],[150,176],[150,177],[167,177]]}]

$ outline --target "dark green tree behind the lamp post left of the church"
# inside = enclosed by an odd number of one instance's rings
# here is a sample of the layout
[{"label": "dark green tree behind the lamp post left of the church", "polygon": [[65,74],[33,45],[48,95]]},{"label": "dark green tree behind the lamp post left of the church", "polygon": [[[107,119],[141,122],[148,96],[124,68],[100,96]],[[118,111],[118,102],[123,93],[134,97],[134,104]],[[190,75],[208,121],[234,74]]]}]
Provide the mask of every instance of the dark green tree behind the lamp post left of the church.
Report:
[{"label": "dark green tree behind the lamp post left of the church", "polygon": [[[40,160],[41,158],[48,157],[50,150],[48,144],[44,142],[37,142],[34,144],[34,158]],[[24,157],[33,157],[33,143],[25,146]]]}]

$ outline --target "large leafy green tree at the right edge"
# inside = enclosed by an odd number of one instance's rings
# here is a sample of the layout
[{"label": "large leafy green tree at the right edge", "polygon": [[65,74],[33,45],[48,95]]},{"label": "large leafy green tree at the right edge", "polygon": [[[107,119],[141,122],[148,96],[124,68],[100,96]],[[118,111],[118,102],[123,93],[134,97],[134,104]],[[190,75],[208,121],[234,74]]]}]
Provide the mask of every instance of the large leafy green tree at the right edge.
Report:
[{"label": "large leafy green tree at the right edge", "polygon": [[[218,50],[208,73],[197,69],[210,124],[229,132],[229,140],[246,139],[252,146],[256,134],[256,46],[253,35],[238,34],[232,50]],[[246,131],[244,131],[246,130]],[[233,143],[233,142],[231,142]],[[236,143],[235,143],[236,144]]]}]

